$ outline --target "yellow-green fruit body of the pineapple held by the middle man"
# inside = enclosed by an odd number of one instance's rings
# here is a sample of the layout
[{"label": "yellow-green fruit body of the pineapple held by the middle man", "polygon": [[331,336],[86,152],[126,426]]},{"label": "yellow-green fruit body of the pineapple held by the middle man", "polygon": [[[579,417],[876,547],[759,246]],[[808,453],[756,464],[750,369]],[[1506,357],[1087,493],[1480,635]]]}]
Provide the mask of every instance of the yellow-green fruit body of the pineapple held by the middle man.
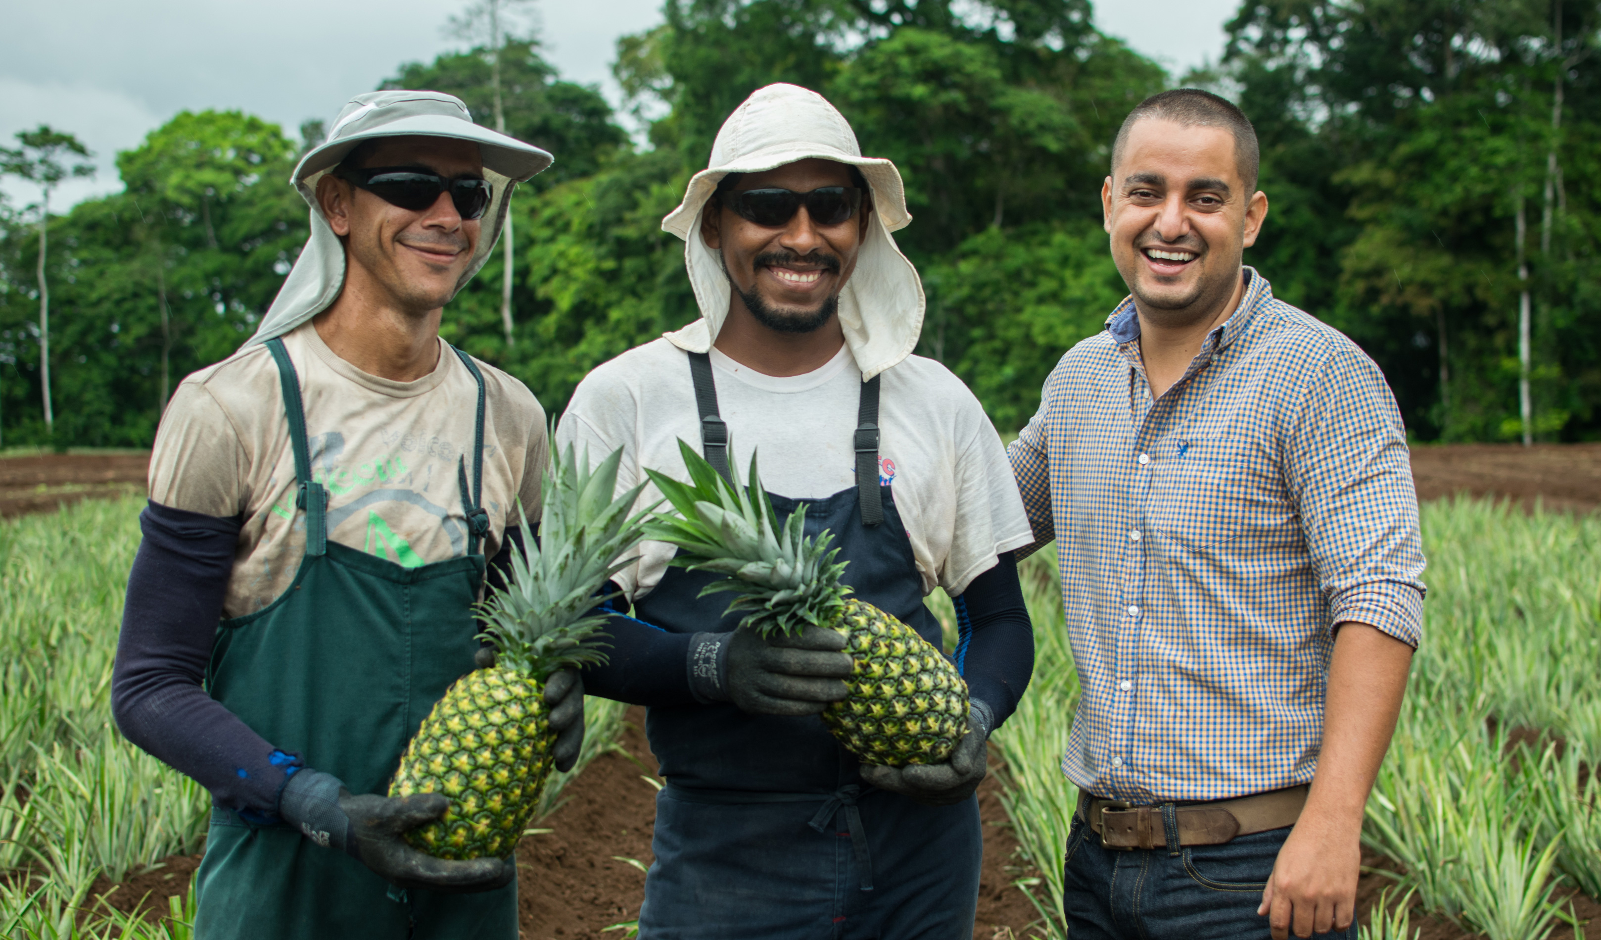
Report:
[{"label": "yellow-green fruit body of the pineapple held by the middle man", "polygon": [[967,730],[967,681],[917,631],[855,597],[831,625],[845,634],[850,695],[823,713],[865,764],[940,764]]}]

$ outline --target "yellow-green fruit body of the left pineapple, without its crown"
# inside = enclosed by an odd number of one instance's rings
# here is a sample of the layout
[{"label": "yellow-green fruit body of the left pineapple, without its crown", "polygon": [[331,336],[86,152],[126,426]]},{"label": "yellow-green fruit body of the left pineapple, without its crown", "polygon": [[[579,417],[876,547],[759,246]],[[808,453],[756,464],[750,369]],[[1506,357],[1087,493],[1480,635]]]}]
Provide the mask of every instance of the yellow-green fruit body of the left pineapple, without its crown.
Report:
[{"label": "yellow-green fruit body of the left pineapple, without its crown", "polygon": [[411,830],[407,842],[439,858],[509,855],[551,775],[554,745],[543,682],[500,666],[456,679],[389,786],[389,796],[450,797],[445,818]]}]

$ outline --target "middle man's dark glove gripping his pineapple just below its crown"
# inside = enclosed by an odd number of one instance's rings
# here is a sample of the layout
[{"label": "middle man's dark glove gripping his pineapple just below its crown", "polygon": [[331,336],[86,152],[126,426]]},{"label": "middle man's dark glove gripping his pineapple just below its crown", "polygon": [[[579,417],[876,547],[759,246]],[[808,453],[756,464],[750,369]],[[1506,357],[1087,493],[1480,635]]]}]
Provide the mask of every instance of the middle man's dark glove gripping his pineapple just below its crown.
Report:
[{"label": "middle man's dark glove gripping his pineapple just below its crown", "polygon": [[770,639],[749,629],[698,633],[690,641],[690,687],[752,714],[821,714],[850,695],[842,679],[855,661],[844,649],[844,634],[823,626]]}]

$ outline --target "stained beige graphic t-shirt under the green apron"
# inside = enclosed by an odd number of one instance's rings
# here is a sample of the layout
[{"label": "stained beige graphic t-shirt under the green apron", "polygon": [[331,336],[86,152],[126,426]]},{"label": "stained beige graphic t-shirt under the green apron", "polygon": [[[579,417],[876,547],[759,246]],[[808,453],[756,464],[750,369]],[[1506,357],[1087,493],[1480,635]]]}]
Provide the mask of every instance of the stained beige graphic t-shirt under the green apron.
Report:
[{"label": "stained beige graphic t-shirt under the green apron", "polygon": [[[283,336],[299,375],[312,476],[328,488],[328,538],[405,567],[459,557],[469,528],[456,468],[472,477],[477,383],[440,341],[439,365],[389,381],[335,356],[312,323]],[[484,373],[485,556],[500,551],[516,504],[538,519],[544,410],[516,378]],[[150,500],[207,516],[242,516],[226,617],[261,610],[295,580],[306,514],[295,509],[295,450],[266,346],[186,378],[150,455]]]}]

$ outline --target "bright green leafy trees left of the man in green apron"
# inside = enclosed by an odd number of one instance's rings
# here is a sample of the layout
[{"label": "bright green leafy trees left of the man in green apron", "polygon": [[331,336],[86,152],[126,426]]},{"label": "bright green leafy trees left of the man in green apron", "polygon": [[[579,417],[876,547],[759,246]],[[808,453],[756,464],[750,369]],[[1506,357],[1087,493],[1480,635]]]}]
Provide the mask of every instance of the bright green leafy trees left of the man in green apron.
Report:
[{"label": "bright green leafy trees left of the man in green apron", "polygon": [[[149,447],[171,383],[250,336],[306,240],[306,203],[283,184],[295,151],[255,117],[183,114],[118,154],[123,192],[51,218],[45,264],[70,356],[54,357],[53,429],[22,418],[38,404],[26,388],[0,388],[11,440]],[[16,223],[0,235],[0,351],[38,375],[26,272],[42,253]]]}]

